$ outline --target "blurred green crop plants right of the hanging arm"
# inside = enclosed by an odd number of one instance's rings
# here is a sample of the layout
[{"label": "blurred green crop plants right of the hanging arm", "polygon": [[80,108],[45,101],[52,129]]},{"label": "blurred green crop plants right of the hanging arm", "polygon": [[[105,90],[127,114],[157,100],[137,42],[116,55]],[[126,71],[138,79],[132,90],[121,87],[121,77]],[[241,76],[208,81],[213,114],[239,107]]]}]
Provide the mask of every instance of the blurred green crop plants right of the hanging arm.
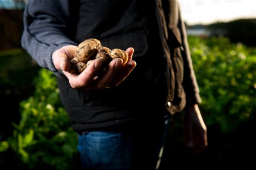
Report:
[{"label": "blurred green crop plants right of the hanging arm", "polygon": [[253,120],[256,113],[256,49],[226,37],[188,37],[208,125],[222,131]]}]

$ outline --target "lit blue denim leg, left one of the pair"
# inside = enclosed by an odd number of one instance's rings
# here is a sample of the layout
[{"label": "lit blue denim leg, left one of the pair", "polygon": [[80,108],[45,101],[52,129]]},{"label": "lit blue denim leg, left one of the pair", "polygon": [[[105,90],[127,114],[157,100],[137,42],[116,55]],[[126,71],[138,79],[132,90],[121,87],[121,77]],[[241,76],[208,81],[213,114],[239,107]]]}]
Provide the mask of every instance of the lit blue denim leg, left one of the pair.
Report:
[{"label": "lit blue denim leg, left one of the pair", "polygon": [[83,169],[131,169],[132,138],[112,131],[78,135]]}]

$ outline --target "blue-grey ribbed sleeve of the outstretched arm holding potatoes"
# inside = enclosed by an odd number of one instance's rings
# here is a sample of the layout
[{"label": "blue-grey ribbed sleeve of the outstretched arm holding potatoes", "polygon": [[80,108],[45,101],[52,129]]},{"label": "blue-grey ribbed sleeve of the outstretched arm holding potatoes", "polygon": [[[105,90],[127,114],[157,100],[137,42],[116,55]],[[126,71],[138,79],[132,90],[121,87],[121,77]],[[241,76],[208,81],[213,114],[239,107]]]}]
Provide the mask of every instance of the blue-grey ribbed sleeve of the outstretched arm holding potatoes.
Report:
[{"label": "blue-grey ribbed sleeve of the outstretched arm holding potatoes", "polygon": [[22,48],[36,60],[39,66],[63,76],[52,62],[55,50],[65,45],[77,45],[72,41],[69,0],[28,1],[24,9]]}]

